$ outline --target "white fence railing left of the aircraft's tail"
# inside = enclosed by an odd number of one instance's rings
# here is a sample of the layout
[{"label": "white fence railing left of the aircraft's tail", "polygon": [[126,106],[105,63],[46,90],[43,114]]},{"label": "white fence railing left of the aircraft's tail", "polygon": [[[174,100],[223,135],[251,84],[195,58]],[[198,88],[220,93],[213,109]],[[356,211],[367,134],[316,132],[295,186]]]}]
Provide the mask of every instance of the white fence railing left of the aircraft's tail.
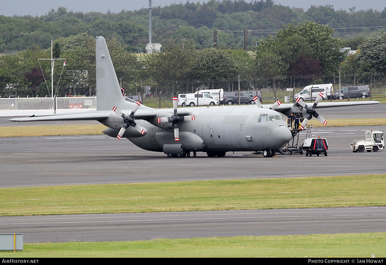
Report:
[{"label": "white fence railing left of the aircraft's tail", "polygon": [[0,98],[0,116],[28,116],[96,109],[96,97]]}]

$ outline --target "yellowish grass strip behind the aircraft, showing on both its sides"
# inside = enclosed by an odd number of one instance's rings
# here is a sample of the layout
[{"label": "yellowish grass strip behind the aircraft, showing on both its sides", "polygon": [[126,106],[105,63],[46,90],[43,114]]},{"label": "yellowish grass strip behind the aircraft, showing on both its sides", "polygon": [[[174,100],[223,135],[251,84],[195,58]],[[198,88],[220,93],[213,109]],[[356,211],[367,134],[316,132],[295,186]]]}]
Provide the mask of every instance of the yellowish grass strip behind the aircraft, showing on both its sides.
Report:
[{"label": "yellowish grass strip behind the aircraft, showing on both its sides", "polygon": [[[313,124],[314,127],[385,126],[386,118],[328,119],[327,126],[324,126],[316,119],[311,119],[307,124]],[[8,126],[0,127],[0,137],[95,135],[103,134],[104,129],[106,129],[106,126],[102,124]]]}]

